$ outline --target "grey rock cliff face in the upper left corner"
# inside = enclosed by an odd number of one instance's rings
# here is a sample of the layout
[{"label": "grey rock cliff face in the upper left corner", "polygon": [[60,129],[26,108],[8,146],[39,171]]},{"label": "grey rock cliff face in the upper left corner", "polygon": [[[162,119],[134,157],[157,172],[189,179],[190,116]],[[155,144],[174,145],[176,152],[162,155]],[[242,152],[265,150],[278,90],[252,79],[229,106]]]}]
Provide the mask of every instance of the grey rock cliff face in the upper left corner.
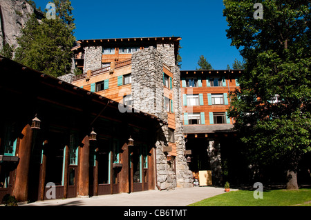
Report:
[{"label": "grey rock cliff face in the upper left corner", "polygon": [[33,12],[34,8],[25,0],[0,1],[0,50],[5,43],[17,48],[17,38]]}]

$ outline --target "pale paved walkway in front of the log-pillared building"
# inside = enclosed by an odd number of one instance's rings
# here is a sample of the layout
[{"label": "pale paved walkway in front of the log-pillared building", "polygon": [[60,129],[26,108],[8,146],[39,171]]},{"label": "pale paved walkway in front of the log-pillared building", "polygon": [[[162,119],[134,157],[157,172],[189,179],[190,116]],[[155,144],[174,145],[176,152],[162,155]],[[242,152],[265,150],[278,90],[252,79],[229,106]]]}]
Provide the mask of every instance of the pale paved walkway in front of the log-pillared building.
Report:
[{"label": "pale paved walkway in front of the log-pillared building", "polygon": [[131,194],[109,194],[86,199],[51,199],[20,206],[187,206],[218,194],[223,188],[211,186],[176,188],[176,190],[148,190]]}]

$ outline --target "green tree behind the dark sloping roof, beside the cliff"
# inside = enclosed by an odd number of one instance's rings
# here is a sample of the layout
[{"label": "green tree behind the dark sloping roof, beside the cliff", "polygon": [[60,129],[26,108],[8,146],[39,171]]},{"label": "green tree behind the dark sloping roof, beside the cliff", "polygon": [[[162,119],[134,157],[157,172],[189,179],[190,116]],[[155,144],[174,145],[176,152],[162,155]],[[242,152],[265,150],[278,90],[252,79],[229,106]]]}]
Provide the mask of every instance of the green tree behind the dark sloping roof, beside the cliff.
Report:
[{"label": "green tree behind the dark sloping roof, beside the cliff", "polygon": [[71,70],[71,48],[75,42],[73,30],[73,8],[68,0],[55,0],[56,19],[37,21],[35,14],[26,23],[18,39],[15,59],[25,66],[53,77],[67,74]]}]

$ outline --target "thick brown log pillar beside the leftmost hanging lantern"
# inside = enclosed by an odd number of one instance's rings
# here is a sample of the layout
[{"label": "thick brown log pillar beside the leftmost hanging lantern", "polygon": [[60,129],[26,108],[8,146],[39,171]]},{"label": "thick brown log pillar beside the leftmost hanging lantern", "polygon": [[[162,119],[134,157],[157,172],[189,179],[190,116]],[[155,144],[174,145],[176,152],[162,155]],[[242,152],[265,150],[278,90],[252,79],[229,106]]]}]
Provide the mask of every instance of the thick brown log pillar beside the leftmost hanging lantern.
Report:
[{"label": "thick brown log pillar beside the leftmost hanging lantern", "polygon": [[26,125],[21,132],[22,138],[19,143],[19,164],[17,166],[15,181],[15,197],[17,201],[28,200],[28,172],[32,145],[32,129]]}]

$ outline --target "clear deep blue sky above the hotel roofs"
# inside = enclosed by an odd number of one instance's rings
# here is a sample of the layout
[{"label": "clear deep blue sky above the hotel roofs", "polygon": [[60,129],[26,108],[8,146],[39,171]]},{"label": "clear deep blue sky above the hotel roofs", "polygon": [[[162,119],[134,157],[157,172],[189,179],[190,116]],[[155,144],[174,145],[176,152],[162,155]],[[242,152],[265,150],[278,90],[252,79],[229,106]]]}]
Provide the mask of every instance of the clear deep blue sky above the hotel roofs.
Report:
[{"label": "clear deep blue sky above the hotel roofs", "polygon": [[[46,8],[48,0],[35,0]],[[200,55],[215,70],[242,61],[230,46],[222,0],[72,0],[77,39],[182,37],[181,70],[195,70]]]}]

